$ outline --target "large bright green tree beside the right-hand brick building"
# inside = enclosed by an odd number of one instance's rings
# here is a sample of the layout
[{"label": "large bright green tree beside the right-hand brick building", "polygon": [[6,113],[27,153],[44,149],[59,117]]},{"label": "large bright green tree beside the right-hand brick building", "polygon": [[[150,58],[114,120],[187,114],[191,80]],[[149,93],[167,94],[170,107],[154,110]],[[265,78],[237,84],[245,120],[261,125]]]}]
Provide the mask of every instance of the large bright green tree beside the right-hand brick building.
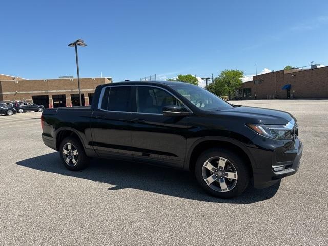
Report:
[{"label": "large bright green tree beside the right-hand brick building", "polygon": [[236,90],[241,87],[241,79],[243,76],[244,72],[241,70],[226,69],[213,80],[213,85],[209,87],[209,90],[213,90],[211,92],[218,96],[228,95],[229,99],[231,99],[231,95],[233,95]]}]

